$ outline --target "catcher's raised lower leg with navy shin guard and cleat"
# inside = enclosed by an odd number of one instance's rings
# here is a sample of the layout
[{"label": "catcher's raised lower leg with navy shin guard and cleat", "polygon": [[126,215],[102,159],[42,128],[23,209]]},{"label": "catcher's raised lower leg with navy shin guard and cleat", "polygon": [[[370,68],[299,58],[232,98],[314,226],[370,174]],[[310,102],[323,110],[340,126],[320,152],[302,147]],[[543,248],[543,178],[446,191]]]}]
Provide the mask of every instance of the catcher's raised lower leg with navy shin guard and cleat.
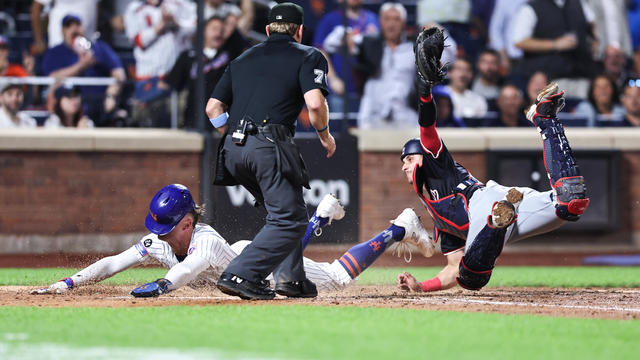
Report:
[{"label": "catcher's raised lower leg with navy shin guard and cleat", "polygon": [[558,202],[556,215],[561,219],[577,221],[589,206],[589,199],[564,128],[556,117],[564,107],[563,95],[564,91],[559,92],[557,84],[550,84],[540,92],[527,118],[535,124],[542,137],[544,166]]}]

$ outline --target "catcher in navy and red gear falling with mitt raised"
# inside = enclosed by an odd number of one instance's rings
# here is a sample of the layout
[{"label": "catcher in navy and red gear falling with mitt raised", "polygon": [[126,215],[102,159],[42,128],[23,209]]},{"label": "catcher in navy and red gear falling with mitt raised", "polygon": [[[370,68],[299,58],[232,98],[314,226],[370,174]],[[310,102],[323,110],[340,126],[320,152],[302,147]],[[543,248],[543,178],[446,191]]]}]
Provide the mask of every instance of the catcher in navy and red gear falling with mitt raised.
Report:
[{"label": "catcher in navy and red gear falling with mitt raised", "polygon": [[422,31],[414,46],[419,84],[420,139],[402,149],[402,170],[435,224],[447,266],[433,279],[418,283],[409,273],[398,275],[403,290],[436,291],[458,283],[470,290],[484,287],[506,242],[557,229],[577,221],[589,204],[584,178],[556,115],[564,91],[549,84],[527,112],[543,142],[544,164],[551,190],[483,184],[458,164],[436,130],[431,86],[443,79],[440,56],[444,37],[437,28]]}]

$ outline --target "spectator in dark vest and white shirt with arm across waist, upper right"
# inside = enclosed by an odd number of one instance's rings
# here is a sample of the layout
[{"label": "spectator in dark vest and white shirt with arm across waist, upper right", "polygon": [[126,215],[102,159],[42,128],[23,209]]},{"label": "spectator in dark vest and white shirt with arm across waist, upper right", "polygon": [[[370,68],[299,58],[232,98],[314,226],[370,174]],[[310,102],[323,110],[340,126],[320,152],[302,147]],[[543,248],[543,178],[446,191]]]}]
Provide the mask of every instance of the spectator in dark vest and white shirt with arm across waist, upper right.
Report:
[{"label": "spectator in dark vest and white shirt with arm across waist, upper right", "polygon": [[522,77],[544,71],[550,78],[590,77],[593,12],[581,0],[532,0],[518,10],[512,39],[524,52],[515,69]]}]

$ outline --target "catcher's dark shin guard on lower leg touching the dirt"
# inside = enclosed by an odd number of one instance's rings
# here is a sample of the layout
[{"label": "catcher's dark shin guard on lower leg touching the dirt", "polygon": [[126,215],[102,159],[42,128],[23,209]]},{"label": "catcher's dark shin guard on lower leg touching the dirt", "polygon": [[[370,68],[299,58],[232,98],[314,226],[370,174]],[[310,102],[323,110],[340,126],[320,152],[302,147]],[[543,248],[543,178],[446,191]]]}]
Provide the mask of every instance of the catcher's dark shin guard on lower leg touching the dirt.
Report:
[{"label": "catcher's dark shin guard on lower leg touching the dirt", "polygon": [[490,221],[491,216],[487,219],[487,225],[478,233],[475,241],[460,260],[456,281],[467,290],[480,290],[487,285],[496,260],[504,247],[507,227],[492,227],[489,225]]}]

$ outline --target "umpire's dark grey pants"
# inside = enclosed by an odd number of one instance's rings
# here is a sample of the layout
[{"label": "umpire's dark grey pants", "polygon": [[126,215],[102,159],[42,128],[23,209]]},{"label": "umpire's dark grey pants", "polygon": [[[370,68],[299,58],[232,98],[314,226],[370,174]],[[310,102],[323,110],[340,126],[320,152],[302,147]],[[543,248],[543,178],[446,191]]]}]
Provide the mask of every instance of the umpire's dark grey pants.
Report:
[{"label": "umpire's dark grey pants", "polygon": [[308,216],[302,186],[293,186],[280,174],[275,144],[263,133],[247,135],[244,146],[227,136],[222,151],[229,173],[268,213],[264,227],[225,271],[253,282],[271,272],[277,283],[304,280],[302,237]]}]

